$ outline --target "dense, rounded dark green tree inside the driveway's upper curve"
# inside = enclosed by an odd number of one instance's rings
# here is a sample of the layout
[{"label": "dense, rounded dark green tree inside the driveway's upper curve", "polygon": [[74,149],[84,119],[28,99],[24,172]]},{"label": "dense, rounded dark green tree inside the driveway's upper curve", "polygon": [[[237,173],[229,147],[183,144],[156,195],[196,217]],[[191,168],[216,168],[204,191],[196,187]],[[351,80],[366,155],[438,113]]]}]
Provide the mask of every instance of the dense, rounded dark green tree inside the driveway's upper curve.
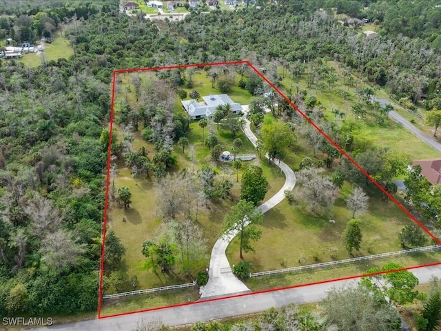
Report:
[{"label": "dense, rounded dark green tree inside the driveway's upper curve", "polygon": [[258,165],[249,165],[242,174],[240,199],[252,201],[257,205],[265,198],[268,190],[268,181],[263,176],[263,170]]}]

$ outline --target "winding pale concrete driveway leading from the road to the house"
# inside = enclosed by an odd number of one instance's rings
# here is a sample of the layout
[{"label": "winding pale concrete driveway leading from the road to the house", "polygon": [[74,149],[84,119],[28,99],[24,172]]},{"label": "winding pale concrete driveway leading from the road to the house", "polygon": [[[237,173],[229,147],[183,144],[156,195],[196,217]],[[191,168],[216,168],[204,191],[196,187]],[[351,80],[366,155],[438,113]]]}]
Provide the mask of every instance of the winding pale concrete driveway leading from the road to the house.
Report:
[{"label": "winding pale concrete driveway leading from the road to the house", "polygon": [[[252,132],[249,127],[249,121],[246,119],[248,107],[243,106],[243,112],[245,113],[245,135],[256,146],[257,137]],[[288,165],[280,161],[276,162],[280,169],[285,174],[285,183],[280,190],[274,194],[268,201],[262,203],[258,206],[258,209],[262,213],[267,212],[275,205],[285,199],[285,190],[292,190],[294,185],[296,185],[296,177],[294,172],[289,168]],[[265,220],[264,220],[265,221]],[[232,268],[229,265],[227,256],[225,255],[225,250],[227,249],[229,243],[236,236],[237,232],[229,235],[228,237],[220,237],[216,243],[214,243],[212,249],[212,255],[209,261],[209,281],[207,285],[203,287],[201,294],[201,299],[209,299],[213,297],[225,297],[225,295],[235,294],[235,293],[245,293],[250,292],[249,288],[245,286],[244,283],[239,281],[233,274]]]}]

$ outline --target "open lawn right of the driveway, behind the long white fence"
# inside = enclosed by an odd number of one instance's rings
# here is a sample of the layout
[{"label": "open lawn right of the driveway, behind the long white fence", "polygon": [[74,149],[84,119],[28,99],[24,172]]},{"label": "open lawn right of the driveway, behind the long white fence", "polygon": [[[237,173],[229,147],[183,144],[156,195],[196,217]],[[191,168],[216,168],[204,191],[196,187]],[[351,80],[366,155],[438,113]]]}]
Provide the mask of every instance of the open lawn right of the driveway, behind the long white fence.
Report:
[{"label": "open lawn right of the driveway, behind the long white fence", "polygon": [[[265,213],[260,225],[263,236],[254,245],[256,252],[245,254],[245,259],[251,261],[254,271],[258,272],[351,258],[341,240],[352,216],[346,207],[350,192],[351,187],[346,184],[329,213],[321,217],[290,205],[286,200],[276,205]],[[411,219],[394,203],[381,199],[369,202],[369,212],[358,218],[363,240],[360,252],[355,255],[402,250],[398,233],[412,222]],[[329,219],[336,223],[329,223]],[[227,248],[227,257],[231,264],[240,261],[237,239]]]}]

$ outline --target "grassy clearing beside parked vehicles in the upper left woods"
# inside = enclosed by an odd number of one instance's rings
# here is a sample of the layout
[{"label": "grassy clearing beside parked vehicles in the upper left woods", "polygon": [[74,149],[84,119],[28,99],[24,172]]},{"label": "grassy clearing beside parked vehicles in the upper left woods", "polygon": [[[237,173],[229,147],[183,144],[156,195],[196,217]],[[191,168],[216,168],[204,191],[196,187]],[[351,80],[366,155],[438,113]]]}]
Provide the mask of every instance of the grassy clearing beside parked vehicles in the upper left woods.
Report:
[{"label": "grassy clearing beside parked vehicles in the upper left woods", "polygon": [[43,59],[44,61],[57,61],[62,57],[68,59],[73,54],[74,50],[70,46],[69,41],[61,37],[60,32],[57,31],[52,36],[52,43],[44,44],[43,52],[23,54],[23,57],[17,61],[25,64],[25,66],[37,67],[41,65]]}]

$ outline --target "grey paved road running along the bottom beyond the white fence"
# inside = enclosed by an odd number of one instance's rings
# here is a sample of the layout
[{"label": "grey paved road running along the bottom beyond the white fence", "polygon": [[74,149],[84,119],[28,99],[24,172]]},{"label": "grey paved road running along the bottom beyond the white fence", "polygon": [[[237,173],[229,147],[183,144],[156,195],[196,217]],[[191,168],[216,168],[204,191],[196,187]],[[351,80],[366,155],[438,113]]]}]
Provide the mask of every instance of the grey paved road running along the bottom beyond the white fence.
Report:
[{"label": "grey paved road running along the bottom beyond the white fence", "polygon": [[[418,277],[420,283],[427,283],[431,276],[441,277],[441,265],[412,270]],[[121,317],[107,319],[96,319],[79,323],[54,325],[50,328],[39,328],[37,330],[63,330],[63,331],[130,331],[136,328],[139,321],[150,321],[150,319],[161,319],[163,323],[170,326],[195,323],[197,321],[208,321],[231,317],[232,315],[251,314],[260,312],[271,307],[280,307],[289,303],[302,304],[314,303],[322,300],[326,291],[334,285],[342,285],[351,281],[333,281],[317,285],[308,285],[287,290],[274,292],[243,294],[240,297],[214,301],[198,301],[191,305],[181,307],[164,308],[150,312],[141,312]]]}]

